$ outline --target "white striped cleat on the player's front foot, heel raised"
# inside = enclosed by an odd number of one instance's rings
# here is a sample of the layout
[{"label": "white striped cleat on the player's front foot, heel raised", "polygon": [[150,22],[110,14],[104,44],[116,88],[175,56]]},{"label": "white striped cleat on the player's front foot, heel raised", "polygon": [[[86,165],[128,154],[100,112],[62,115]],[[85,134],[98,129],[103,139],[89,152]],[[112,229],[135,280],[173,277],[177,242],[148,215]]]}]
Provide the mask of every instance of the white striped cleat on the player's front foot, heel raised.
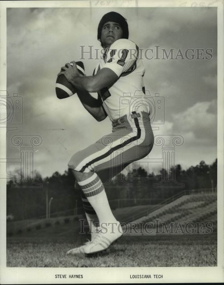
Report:
[{"label": "white striped cleat on the player's front foot, heel raised", "polygon": [[86,244],[83,250],[84,253],[93,254],[108,249],[112,243],[123,235],[122,228],[119,226],[119,224],[120,223],[117,221],[117,225],[113,224],[113,227],[103,227],[103,229],[101,229],[101,231],[99,231],[99,233],[96,235],[95,239]]}]

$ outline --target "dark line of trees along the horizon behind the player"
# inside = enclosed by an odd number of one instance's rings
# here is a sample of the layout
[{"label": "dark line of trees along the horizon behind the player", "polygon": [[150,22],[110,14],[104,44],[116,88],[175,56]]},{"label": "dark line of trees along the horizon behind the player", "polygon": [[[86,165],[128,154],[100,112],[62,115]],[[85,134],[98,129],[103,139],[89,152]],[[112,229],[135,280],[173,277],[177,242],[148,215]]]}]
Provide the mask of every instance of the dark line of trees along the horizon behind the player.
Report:
[{"label": "dark line of trees along the horizon behind the player", "polygon": [[[75,206],[82,208],[80,190],[74,189],[75,181],[70,169],[63,174],[54,172],[52,176],[45,178],[35,172],[34,181],[42,184],[42,187],[34,188],[30,181],[20,182],[20,187],[12,187],[18,180],[12,179],[7,182],[7,215],[12,214],[15,220],[44,217],[46,192],[48,201],[53,198],[51,213],[74,209]],[[215,191],[217,159],[211,165],[201,161],[187,170],[183,170],[178,164],[169,172],[161,169],[157,175],[139,167],[130,170],[127,175],[119,174],[109,182],[105,182],[104,186],[112,208],[136,203],[157,204],[183,190],[213,188]]]}]

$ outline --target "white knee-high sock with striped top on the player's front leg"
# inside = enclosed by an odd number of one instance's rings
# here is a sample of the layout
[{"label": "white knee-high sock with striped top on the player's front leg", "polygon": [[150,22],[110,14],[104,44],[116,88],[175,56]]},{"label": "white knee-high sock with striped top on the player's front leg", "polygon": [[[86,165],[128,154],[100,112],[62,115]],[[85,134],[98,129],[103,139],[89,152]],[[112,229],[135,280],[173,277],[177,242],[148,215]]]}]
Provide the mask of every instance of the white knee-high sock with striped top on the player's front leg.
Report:
[{"label": "white knee-high sock with striped top on the player's front leg", "polygon": [[95,210],[99,219],[99,224],[116,223],[117,220],[111,212],[107,195],[99,176],[94,173],[86,180],[78,182],[78,184]]}]

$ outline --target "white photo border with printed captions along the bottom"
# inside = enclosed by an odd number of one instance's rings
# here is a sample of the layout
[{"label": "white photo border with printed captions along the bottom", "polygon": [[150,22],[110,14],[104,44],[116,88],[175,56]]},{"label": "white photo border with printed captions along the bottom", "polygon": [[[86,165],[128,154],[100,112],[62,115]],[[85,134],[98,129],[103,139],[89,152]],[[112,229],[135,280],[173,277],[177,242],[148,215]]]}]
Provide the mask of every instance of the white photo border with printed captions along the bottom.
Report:
[{"label": "white photo border with printed captions along the bottom", "polygon": [[[55,274],[74,274],[74,268],[9,268],[6,267],[6,179],[0,179],[0,283],[1,284],[74,284],[74,283],[133,283],[130,273],[133,274],[163,274],[163,279],[155,280],[154,283],[181,283],[181,282],[223,282],[224,281],[224,230],[223,230],[223,1],[1,1],[0,3],[0,90],[6,90],[7,55],[6,55],[6,8],[7,7],[217,7],[218,25],[218,132],[217,132],[217,158],[218,158],[218,182],[217,182],[217,231],[218,231],[218,259],[217,267],[138,267],[138,268],[78,268],[76,272],[83,274],[83,279],[55,279]],[[194,5],[196,5],[194,4]],[[1,113],[6,110],[1,106]],[[0,157],[6,158],[6,128],[0,127]],[[0,177],[5,173],[0,168]],[[106,274],[104,274],[106,272]],[[147,279],[135,279],[135,283],[148,283]]]}]

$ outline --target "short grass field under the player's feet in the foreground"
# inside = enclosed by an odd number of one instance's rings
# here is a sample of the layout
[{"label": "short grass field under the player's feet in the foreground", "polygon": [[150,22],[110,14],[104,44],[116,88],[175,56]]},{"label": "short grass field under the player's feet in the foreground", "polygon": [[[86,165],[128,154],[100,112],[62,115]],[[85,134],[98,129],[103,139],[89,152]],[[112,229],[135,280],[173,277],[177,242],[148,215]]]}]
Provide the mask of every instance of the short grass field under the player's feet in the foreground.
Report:
[{"label": "short grass field under the player's feet in the foreground", "polygon": [[[86,236],[85,236],[86,237]],[[216,235],[123,236],[95,257],[68,255],[85,237],[17,235],[7,238],[7,267],[217,266]]]}]

